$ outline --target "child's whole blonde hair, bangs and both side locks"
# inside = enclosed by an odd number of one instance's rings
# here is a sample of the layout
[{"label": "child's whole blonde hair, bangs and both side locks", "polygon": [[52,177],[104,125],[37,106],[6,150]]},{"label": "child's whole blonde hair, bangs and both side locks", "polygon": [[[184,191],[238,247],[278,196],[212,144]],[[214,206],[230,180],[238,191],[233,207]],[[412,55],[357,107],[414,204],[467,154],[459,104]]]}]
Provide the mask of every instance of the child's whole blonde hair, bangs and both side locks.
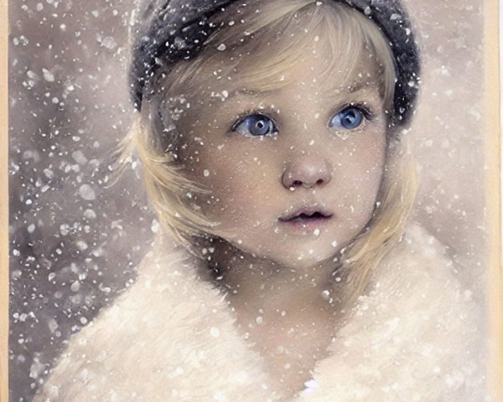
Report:
[{"label": "child's whole blonde hair, bangs and both side locks", "polygon": [[[204,84],[201,77],[207,77],[218,65],[222,77],[237,72],[242,87],[250,83],[259,90],[286,86],[287,80],[278,79],[283,70],[295,65],[299,49],[305,49],[319,35],[330,55],[323,73],[327,78],[341,57],[348,63],[348,77],[362,55],[374,57],[385,113],[391,113],[395,83],[392,54],[379,28],[359,12],[337,2],[237,2],[212,23],[216,30],[199,56],[179,62],[171,71],[157,72],[153,85],[156,90],[144,94],[142,112],[125,152],[134,148],[138,152],[146,190],[164,231],[199,256],[197,239],[211,237],[217,223],[208,222],[191,202],[194,194],[206,190],[184,177],[177,162],[177,148],[184,135],[178,131],[177,121],[190,106],[187,97],[197,96]],[[299,32],[299,26],[302,34],[294,34]],[[250,60],[250,54],[259,61]],[[369,273],[399,241],[410,214],[415,197],[415,169],[404,139],[398,139],[396,134],[390,126],[386,171],[373,217],[341,252],[338,273],[346,278],[344,300],[353,300],[361,293]]]}]

